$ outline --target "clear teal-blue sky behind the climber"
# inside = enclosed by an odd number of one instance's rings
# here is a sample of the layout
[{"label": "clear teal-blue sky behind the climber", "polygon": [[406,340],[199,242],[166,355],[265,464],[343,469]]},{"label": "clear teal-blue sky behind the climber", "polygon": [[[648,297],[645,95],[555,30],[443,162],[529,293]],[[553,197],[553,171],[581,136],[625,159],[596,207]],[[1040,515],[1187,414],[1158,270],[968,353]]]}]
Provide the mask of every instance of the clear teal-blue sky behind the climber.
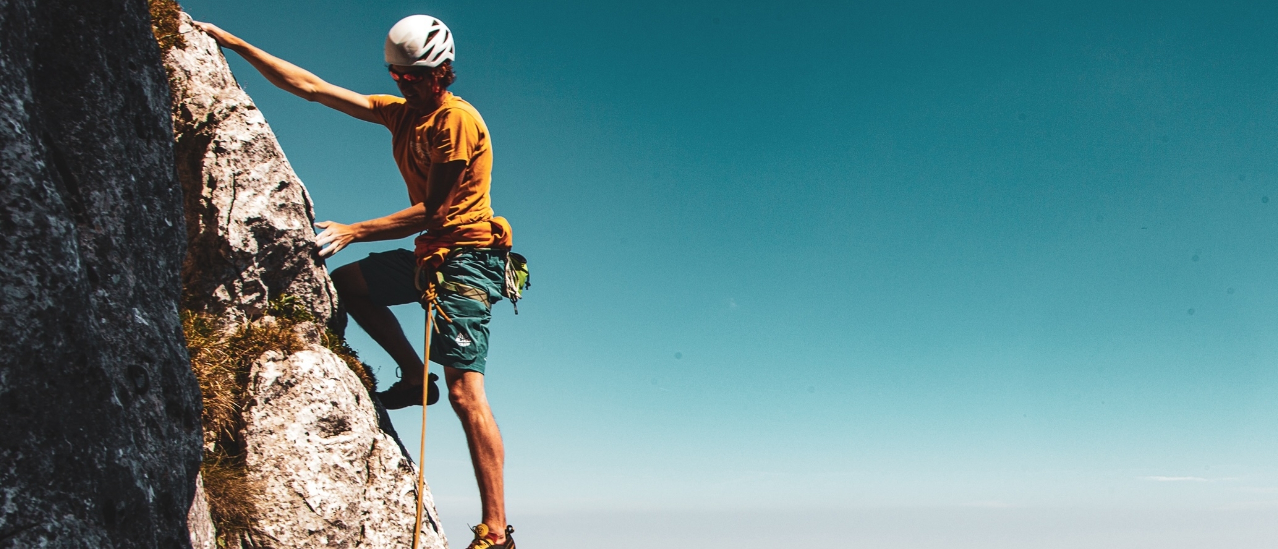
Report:
[{"label": "clear teal-blue sky behind the climber", "polygon": [[[1278,9],[1067,4],[184,1],[364,93],[399,18],[452,28],[533,268],[488,377],[521,544],[1273,546]],[[231,61],[321,220],[408,206],[385,129]]]}]

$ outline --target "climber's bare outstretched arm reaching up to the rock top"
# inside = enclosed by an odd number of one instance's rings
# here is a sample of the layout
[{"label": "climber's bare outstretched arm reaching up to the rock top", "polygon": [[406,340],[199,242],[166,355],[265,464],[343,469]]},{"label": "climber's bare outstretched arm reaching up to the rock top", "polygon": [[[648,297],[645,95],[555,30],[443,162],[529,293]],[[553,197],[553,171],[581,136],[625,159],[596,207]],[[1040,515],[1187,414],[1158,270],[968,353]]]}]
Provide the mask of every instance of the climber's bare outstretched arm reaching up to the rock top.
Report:
[{"label": "climber's bare outstretched arm reaching up to the rock top", "polygon": [[267,80],[294,96],[307,101],[316,101],[326,107],[332,107],[369,123],[377,123],[373,117],[373,106],[368,102],[368,96],[351,92],[350,89],[330,84],[311,74],[311,71],[267,54],[240,40],[211,23],[194,22],[196,28],[208,33],[217,41],[219,46],[229,49],[245,61],[250,63]]}]

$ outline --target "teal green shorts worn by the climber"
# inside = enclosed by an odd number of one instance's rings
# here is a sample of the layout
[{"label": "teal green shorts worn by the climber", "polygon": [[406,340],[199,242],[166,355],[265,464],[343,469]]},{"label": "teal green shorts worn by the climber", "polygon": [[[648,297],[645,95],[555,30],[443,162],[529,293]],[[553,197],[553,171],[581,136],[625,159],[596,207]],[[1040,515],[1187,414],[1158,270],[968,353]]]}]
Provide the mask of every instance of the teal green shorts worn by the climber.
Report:
[{"label": "teal green shorts worn by the climber", "polygon": [[[368,283],[368,296],[376,305],[418,303],[420,292],[413,283],[417,257],[410,250],[368,254],[358,262]],[[479,289],[488,303],[501,300],[506,281],[506,250],[498,248],[458,248],[440,266],[443,280]],[[484,372],[488,363],[488,304],[446,291],[438,292],[440,309],[452,319],[436,315],[440,331],[431,336],[431,361],[450,368]]]}]

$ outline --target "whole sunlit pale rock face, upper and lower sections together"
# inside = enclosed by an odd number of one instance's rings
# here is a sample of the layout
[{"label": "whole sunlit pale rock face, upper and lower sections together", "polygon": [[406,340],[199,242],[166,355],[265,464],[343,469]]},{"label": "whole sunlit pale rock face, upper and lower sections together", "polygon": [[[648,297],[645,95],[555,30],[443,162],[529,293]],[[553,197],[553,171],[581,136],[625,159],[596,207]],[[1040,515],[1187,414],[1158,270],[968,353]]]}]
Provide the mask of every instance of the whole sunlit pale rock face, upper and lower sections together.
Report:
[{"label": "whole sunlit pale rock face, upper and lower sections together", "polygon": [[[185,303],[252,319],[288,294],[321,326],[335,324],[343,315],[314,254],[305,188],[212,38],[190,32],[185,14],[179,29],[185,47],[169,50],[165,64],[187,192]],[[249,374],[245,462],[262,493],[257,525],[243,541],[276,549],[410,546],[415,466],[380,428],[355,373],[320,345],[322,328],[302,332],[305,350],[267,352]],[[429,492],[424,497],[423,546],[446,548]]]}]

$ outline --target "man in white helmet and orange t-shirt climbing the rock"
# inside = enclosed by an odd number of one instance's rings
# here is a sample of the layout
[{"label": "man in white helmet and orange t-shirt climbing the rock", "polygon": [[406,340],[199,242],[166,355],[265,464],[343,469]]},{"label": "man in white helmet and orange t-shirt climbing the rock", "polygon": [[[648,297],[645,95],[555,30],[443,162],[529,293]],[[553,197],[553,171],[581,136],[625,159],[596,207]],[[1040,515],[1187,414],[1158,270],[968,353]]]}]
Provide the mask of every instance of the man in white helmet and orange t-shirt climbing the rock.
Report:
[{"label": "man in white helmet and orange t-shirt climbing the rock", "polygon": [[[452,33],[429,15],[410,15],[386,38],[390,77],[404,97],[364,96],[330,84],[208,23],[196,26],[243,56],[272,84],[308,101],[390,129],[392,153],[412,207],[344,225],[323,221],[320,255],[350,243],[394,240],[420,232],[414,252],[369,254],[332,273],[346,310],[395,359],[403,378],[377,393],[387,409],[422,406],[423,364],[390,305],[422,299],[435,283],[438,309],[431,360],[443,365],[449,401],[461,420],[479,483],[483,522],[469,549],[514,549],[506,525],[501,433],[484,395],[489,308],[507,290],[511,229],[489,200],[492,146],[479,112],[447,91],[455,79]],[[423,232],[424,231],[424,232]],[[418,268],[420,267],[420,272]],[[433,377],[433,374],[432,374]],[[437,398],[437,392],[428,397]]]}]

